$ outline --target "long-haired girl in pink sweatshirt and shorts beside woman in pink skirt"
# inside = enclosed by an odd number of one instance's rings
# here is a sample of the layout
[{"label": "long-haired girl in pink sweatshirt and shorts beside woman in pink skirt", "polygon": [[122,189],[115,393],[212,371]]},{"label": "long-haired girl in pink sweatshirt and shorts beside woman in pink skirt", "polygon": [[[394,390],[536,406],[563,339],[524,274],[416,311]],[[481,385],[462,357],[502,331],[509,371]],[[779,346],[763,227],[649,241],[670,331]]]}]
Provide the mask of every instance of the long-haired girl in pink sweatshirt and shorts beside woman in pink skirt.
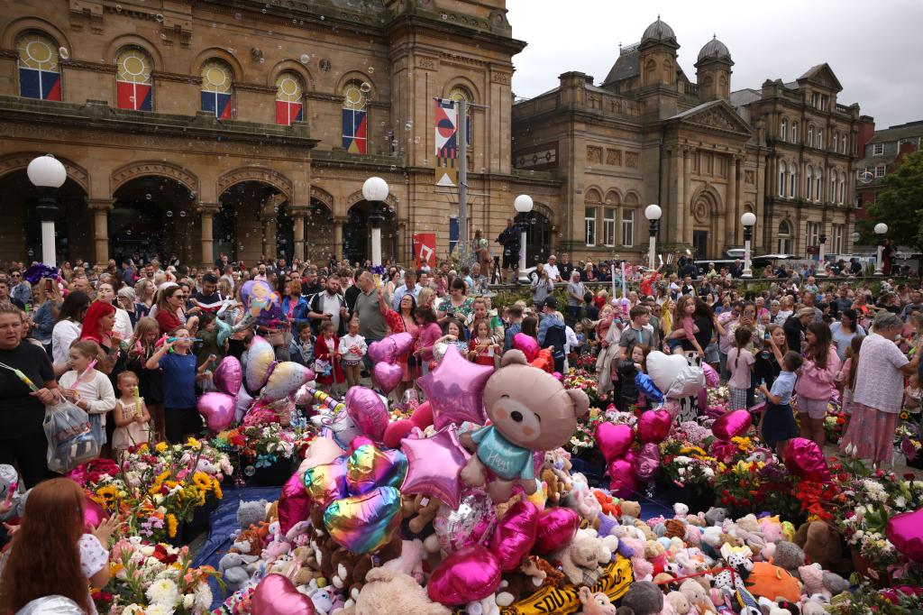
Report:
[{"label": "long-haired girl in pink sweatshirt and shorts beside woman in pink skirt", "polygon": [[811,322],[805,332],[805,362],[798,370],[797,392],[798,420],[801,437],[814,440],[823,448],[825,439],[823,419],[827,404],[836,389],[836,374],[840,370],[840,357],[833,346],[833,334],[826,322]]}]

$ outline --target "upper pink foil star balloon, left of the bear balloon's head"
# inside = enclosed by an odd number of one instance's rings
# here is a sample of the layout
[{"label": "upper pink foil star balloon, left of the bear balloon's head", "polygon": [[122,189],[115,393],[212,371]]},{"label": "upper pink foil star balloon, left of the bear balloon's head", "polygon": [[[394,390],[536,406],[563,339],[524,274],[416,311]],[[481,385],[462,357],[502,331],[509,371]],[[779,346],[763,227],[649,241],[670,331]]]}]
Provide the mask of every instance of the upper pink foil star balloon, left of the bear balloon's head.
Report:
[{"label": "upper pink foil star balloon, left of the bear balloon's head", "polygon": [[471,363],[450,346],[436,369],[417,379],[433,408],[433,425],[484,425],[484,387],[493,373],[494,368]]}]

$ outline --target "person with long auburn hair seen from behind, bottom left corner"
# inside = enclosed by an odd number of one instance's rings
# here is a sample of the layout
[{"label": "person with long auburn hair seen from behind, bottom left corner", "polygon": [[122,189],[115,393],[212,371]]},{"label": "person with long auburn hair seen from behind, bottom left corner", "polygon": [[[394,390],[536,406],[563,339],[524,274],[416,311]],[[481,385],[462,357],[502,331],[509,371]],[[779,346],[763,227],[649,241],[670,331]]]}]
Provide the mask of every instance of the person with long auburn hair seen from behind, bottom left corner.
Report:
[{"label": "person with long auburn hair seen from behind, bottom left corner", "polygon": [[0,612],[15,613],[32,600],[61,596],[95,615],[88,585],[109,582],[107,545],[117,520],[85,534],[84,506],[83,489],[70,478],[46,480],[30,490],[0,578]]}]

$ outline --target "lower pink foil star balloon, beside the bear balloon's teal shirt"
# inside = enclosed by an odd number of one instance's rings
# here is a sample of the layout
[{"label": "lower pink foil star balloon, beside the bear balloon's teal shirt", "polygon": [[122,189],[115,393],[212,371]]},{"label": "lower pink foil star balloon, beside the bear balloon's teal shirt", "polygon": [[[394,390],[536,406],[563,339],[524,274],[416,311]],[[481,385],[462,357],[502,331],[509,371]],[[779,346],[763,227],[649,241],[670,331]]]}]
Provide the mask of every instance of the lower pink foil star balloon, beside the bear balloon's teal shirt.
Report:
[{"label": "lower pink foil star balloon, beside the bear balloon's teal shirt", "polygon": [[422,493],[444,501],[451,509],[458,508],[462,500],[459,473],[471,454],[459,442],[455,427],[445,428],[432,438],[404,438],[401,450],[408,463],[401,492]]}]

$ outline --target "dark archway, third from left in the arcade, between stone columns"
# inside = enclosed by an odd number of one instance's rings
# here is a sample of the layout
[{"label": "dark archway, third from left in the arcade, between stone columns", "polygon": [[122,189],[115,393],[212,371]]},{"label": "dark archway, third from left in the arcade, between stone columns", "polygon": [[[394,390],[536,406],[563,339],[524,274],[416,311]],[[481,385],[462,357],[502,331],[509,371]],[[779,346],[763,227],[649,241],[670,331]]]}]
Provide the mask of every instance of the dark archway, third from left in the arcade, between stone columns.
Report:
[{"label": "dark archway, third from left in the arcade, between stone columns", "polygon": [[[258,180],[234,184],[218,198],[221,208],[215,215],[212,236],[217,254],[251,264],[261,257],[284,256],[291,261],[294,252],[294,225],[286,211],[286,199],[276,187]],[[270,234],[264,225],[270,225]],[[264,246],[265,241],[270,243]]]}]

